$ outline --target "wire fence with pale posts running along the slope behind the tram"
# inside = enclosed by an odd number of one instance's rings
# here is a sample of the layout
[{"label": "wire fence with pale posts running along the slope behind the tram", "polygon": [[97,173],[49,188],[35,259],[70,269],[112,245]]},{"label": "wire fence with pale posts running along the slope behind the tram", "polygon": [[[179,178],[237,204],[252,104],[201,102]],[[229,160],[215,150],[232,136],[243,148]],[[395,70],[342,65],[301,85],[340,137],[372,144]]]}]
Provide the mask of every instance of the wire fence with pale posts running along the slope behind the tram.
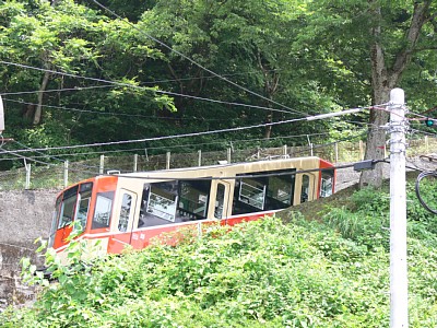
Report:
[{"label": "wire fence with pale posts running along the slope behind the tram", "polygon": [[[409,141],[408,156],[437,150],[437,137]],[[388,153],[388,150],[387,150]],[[349,163],[364,159],[365,142],[333,142],[305,147],[233,149],[214,152],[170,153],[161,155],[123,155],[90,159],[63,164],[36,165],[0,172],[0,190],[60,189],[80,180],[111,172],[129,173],[180,167],[214,165],[218,163],[252,162],[280,157],[319,156],[332,163]]]}]

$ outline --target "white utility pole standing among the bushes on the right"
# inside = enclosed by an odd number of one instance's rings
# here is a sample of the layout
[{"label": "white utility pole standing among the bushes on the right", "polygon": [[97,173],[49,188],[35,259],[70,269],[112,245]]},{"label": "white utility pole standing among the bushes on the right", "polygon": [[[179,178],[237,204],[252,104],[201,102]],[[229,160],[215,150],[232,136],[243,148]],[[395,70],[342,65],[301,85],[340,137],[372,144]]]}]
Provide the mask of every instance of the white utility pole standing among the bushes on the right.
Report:
[{"label": "white utility pole standing among the bushes on the right", "polygon": [[390,327],[409,327],[404,92],[390,92]]}]

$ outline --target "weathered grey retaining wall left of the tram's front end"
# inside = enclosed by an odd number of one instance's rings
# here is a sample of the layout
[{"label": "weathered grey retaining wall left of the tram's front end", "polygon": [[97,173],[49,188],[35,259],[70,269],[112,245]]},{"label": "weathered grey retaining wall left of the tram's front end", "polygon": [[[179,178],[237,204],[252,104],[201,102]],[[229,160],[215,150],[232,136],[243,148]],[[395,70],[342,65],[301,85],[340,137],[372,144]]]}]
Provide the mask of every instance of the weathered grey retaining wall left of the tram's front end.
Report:
[{"label": "weathered grey retaining wall left of the tram's front end", "polygon": [[20,280],[23,257],[40,263],[35,239],[48,238],[57,190],[0,191],[0,309],[32,302],[32,289]]}]

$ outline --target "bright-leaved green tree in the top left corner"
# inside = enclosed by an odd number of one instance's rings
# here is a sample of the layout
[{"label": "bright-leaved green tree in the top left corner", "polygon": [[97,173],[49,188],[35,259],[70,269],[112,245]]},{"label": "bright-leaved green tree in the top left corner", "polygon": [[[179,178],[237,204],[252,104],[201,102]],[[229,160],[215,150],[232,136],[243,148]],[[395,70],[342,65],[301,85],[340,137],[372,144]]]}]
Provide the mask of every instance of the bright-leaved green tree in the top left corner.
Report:
[{"label": "bright-leaved green tree in the top left corner", "polygon": [[[151,60],[161,57],[161,51],[127,22],[108,19],[72,0],[51,4],[12,0],[0,4],[0,58],[40,69],[10,66],[0,71],[2,90],[24,92],[15,101],[27,104],[22,120],[33,124],[33,127],[23,124],[23,129],[15,125],[15,137],[32,134],[26,132],[32,129],[46,130],[47,134],[56,130],[59,143],[129,139],[135,132],[144,137],[137,129],[138,116],[151,117],[151,112],[160,108],[175,110],[173,99],[156,93],[153,84],[140,87],[139,81],[149,78],[147,67]],[[104,82],[90,82],[86,77],[122,85],[99,87],[105,86]],[[93,86],[96,89],[87,89]],[[46,93],[48,89],[62,91]],[[50,105],[58,109],[47,109]],[[74,110],[60,110],[63,106]],[[14,114],[20,113],[16,103],[11,108]],[[126,115],[127,119],[122,116],[117,119],[111,114]],[[56,129],[50,130],[47,124]]]}]

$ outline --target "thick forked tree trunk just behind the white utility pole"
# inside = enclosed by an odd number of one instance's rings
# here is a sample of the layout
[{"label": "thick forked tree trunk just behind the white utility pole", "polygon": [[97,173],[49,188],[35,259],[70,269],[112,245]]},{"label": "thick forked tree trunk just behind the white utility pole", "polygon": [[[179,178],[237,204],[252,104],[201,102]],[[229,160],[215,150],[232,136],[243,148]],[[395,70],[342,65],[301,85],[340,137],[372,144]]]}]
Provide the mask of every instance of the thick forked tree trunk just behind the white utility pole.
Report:
[{"label": "thick forked tree trunk just behind the white utility pole", "polygon": [[[371,62],[371,86],[373,104],[386,104],[389,101],[390,90],[393,89],[401,79],[402,72],[411,60],[412,52],[416,46],[420,32],[425,22],[429,19],[429,5],[432,0],[422,3],[415,2],[411,24],[405,34],[405,46],[398,54],[390,69],[386,66],[383,49],[379,40],[381,39],[381,26],[376,26],[371,31],[374,44],[370,48]],[[375,8],[373,14],[381,17],[380,8]],[[382,21],[381,19],[379,21]],[[382,160],[385,156],[386,131],[381,126],[386,125],[390,114],[381,109],[371,109],[369,128],[366,143],[366,160]],[[382,185],[382,165],[378,163],[375,169],[365,171],[359,177],[359,187],[374,186],[379,188]]]}]

